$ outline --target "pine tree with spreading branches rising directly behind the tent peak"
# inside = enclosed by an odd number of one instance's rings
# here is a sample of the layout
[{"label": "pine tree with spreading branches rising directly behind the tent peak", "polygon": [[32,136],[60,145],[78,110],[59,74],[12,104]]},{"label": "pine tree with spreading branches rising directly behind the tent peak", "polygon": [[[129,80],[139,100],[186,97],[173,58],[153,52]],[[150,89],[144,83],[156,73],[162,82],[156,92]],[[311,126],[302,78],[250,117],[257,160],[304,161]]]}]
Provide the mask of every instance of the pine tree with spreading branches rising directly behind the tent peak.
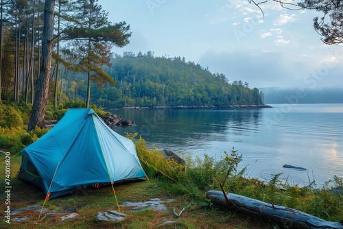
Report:
[{"label": "pine tree with spreading branches rising directly behind the tent peak", "polygon": [[97,0],[78,1],[80,11],[73,15],[77,23],[64,29],[64,39],[71,40],[69,49],[77,53],[78,62],[74,68],[88,75],[86,107],[91,98],[91,82],[101,87],[104,83],[115,84],[113,77],[103,69],[104,64],[110,66],[113,45],[123,47],[128,44],[131,33],[125,22],[112,25],[108,21],[108,12],[102,10]]}]

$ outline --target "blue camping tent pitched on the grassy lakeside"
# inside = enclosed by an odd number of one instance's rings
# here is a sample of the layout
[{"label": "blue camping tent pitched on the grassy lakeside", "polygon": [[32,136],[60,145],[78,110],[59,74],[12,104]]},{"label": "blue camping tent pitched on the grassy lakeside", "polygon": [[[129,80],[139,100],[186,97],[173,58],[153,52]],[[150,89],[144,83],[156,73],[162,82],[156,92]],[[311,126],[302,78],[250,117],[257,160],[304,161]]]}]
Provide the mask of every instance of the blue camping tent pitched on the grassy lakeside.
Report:
[{"label": "blue camping tent pitched on the grassy lakeside", "polygon": [[54,128],[21,153],[17,177],[36,184],[50,198],[86,184],[146,178],[134,143],[90,108],[67,110]]}]

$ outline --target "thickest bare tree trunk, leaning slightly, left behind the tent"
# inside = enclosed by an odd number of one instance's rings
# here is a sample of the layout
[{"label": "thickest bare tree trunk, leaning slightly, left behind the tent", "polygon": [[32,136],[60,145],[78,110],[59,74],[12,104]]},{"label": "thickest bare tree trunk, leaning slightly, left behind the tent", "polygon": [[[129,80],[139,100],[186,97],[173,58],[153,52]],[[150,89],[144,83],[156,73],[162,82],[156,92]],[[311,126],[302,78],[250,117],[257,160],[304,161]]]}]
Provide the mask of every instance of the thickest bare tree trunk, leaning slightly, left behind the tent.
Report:
[{"label": "thickest bare tree trunk, leaning slightly, left behind the tent", "polygon": [[44,6],[44,27],[42,40],[42,60],[40,64],[40,75],[36,86],[36,95],[34,104],[29,117],[29,125],[27,130],[34,130],[36,125],[40,128],[45,126],[44,115],[47,106],[47,97],[49,93],[49,80],[51,74],[51,58],[54,33],[54,0],[45,0]]}]

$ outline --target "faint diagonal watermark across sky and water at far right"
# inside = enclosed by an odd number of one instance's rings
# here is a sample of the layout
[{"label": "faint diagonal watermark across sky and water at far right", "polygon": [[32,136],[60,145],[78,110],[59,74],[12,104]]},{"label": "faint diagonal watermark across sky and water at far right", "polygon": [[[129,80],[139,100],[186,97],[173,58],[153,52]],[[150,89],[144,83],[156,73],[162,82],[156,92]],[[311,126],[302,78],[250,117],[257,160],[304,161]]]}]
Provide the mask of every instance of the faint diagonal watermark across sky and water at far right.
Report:
[{"label": "faint diagonal watermark across sky and water at far right", "polygon": [[333,67],[336,67],[340,62],[338,60],[338,51],[335,54],[329,53],[329,59],[333,60],[331,62],[325,62],[324,64],[320,65],[316,69],[316,71],[312,71],[308,75],[305,75],[303,78],[304,81],[304,88],[298,88],[293,95],[285,95],[284,99],[287,103],[282,104],[280,108],[276,108],[273,113],[272,119],[265,120],[265,126],[267,127],[268,131],[272,130],[273,125],[277,125],[283,119],[285,119],[285,115],[292,111],[294,106],[299,104],[300,99],[304,99],[307,96],[307,91],[309,89],[314,89],[318,86],[318,83],[324,80],[324,77],[329,75],[329,70]]}]

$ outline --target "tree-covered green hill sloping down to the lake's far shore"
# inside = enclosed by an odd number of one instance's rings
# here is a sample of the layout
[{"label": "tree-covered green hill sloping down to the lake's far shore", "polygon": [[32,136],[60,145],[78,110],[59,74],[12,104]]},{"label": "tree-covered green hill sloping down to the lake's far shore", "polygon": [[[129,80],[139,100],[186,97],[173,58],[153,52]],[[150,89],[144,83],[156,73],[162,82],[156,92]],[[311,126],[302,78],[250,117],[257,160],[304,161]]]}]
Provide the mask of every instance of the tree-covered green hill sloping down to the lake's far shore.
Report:
[{"label": "tree-covered green hill sloping down to the lake's far shore", "polygon": [[[247,82],[240,80],[230,82],[224,74],[211,73],[185,58],[154,57],[152,51],[137,55],[124,52],[122,56],[116,54],[111,64],[104,71],[117,84],[93,83],[91,104],[106,108],[263,105],[263,93],[257,88],[250,89]],[[66,75],[69,77],[64,80],[62,91],[69,99],[84,101],[85,74]]]}]

